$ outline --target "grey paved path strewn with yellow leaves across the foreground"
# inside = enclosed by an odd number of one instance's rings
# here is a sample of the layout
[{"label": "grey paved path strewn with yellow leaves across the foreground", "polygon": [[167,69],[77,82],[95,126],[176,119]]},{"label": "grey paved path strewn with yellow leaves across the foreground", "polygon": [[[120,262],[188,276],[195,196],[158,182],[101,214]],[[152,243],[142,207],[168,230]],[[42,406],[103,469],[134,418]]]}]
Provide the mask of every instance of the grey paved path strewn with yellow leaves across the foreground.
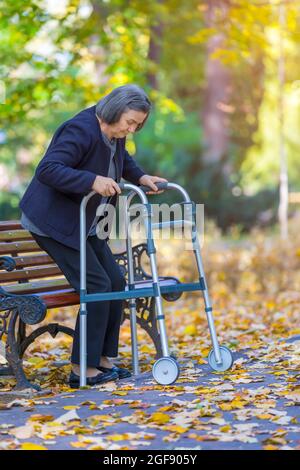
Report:
[{"label": "grey paved path strewn with yellow leaves across the foreground", "polygon": [[146,372],[57,395],[2,394],[0,447],[299,450],[299,339],[236,352],[221,374],[182,358],[169,387]]}]

